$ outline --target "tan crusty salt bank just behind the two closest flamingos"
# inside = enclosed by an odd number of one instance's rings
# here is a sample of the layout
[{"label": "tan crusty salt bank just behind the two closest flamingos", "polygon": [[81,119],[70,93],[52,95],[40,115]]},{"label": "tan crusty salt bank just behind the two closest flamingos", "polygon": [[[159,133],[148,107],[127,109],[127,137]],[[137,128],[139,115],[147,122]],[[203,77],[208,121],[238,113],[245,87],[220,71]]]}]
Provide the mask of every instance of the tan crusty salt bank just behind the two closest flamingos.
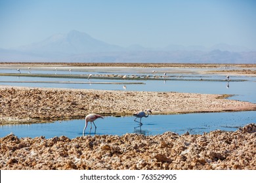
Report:
[{"label": "tan crusty salt bank just behind the two closest flamingos", "polygon": [[1,86],[0,124],[131,115],[150,108],[153,114],[256,110],[256,104],[225,95],[177,92],[128,92]]}]

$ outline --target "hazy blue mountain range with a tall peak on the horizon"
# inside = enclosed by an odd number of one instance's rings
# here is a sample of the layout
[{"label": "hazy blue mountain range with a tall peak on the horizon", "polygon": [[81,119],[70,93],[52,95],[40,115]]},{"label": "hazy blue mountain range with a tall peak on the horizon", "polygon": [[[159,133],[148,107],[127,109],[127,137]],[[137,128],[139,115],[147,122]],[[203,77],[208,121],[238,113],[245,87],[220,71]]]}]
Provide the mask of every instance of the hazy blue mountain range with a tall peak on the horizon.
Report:
[{"label": "hazy blue mountain range with a tall peak on the horizon", "polygon": [[256,63],[256,52],[228,44],[210,48],[175,44],[144,48],[134,44],[124,48],[73,30],[12,50],[0,49],[0,61]]}]

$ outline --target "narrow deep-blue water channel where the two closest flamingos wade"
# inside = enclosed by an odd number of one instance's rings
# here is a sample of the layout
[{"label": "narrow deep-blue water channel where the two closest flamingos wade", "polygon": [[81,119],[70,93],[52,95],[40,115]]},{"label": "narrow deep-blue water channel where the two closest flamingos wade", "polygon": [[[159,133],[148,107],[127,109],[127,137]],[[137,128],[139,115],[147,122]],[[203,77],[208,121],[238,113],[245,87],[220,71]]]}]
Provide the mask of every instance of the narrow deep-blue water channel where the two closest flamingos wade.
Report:
[{"label": "narrow deep-blue water channel where the two closest flamingos wade", "polygon": [[[174,114],[174,115],[152,115],[142,118],[143,125],[139,127],[133,120],[135,117],[113,117],[106,116],[103,120],[95,121],[96,135],[124,135],[126,133],[139,133],[144,135],[157,135],[166,131],[184,134],[202,134],[204,132],[221,129],[224,131],[235,131],[249,123],[256,123],[256,112],[221,112],[221,113],[197,113],[197,114]],[[65,135],[70,139],[79,137],[83,133],[85,120],[58,121],[50,124],[22,124],[1,125],[0,137],[14,133],[18,137],[51,138]],[[85,130],[89,135],[90,124]],[[91,130],[94,135],[95,127]]]}]

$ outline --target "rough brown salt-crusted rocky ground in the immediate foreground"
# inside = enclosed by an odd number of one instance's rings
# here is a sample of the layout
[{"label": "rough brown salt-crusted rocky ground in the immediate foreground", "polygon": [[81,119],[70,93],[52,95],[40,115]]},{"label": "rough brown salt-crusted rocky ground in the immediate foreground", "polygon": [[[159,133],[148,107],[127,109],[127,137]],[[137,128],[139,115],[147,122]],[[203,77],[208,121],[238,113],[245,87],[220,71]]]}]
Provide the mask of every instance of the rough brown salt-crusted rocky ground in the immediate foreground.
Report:
[{"label": "rough brown salt-crusted rocky ground in the immediate foreground", "polygon": [[0,139],[0,169],[256,169],[256,124],[203,135]]}]

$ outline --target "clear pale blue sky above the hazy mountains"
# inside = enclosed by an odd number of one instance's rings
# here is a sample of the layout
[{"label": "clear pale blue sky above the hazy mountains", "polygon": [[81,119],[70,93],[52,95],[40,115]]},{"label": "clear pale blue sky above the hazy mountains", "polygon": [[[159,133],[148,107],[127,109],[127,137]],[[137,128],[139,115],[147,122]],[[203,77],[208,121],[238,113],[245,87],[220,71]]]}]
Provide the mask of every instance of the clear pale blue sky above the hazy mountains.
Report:
[{"label": "clear pale blue sky above the hazy mountains", "polygon": [[255,0],[0,0],[0,48],[71,30],[130,46],[256,49]]}]

